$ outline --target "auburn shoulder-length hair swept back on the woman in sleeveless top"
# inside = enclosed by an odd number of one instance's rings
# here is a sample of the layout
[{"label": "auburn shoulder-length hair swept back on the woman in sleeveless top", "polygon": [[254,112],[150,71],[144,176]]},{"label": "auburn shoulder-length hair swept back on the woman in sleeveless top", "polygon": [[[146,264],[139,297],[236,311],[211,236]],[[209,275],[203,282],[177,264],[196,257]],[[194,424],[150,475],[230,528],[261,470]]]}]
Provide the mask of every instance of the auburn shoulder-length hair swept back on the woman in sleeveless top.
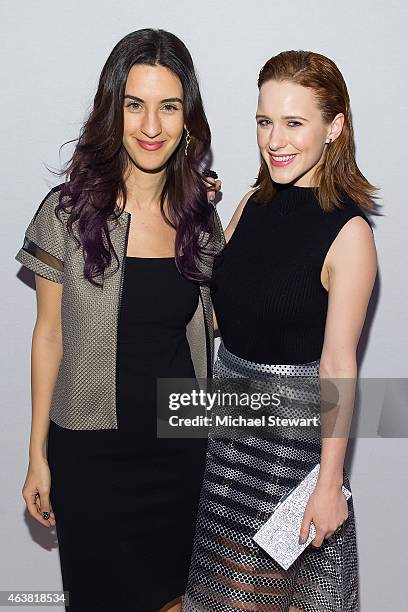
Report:
[{"label": "auburn shoulder-length hair swept back on the woman in sleeveless top", "polygon": [[[344,114],[341,134],[325,148],[322,165],[316,168],[318,188],[315,193],[321,208],[329,212],[341,207],[342,194],[345,193],[359,206],[374,210],[378,187],[369,183],[357,166],[350,99],[336,64],[312,51],[283,51],[262,67],[258,89],[270,80],[291,81],[313,89],[323,121],[327,124],[338,113]],[[275,195],[276,189],[263,158],[253,187],[258,187],[258,202],[270,202]]]}]

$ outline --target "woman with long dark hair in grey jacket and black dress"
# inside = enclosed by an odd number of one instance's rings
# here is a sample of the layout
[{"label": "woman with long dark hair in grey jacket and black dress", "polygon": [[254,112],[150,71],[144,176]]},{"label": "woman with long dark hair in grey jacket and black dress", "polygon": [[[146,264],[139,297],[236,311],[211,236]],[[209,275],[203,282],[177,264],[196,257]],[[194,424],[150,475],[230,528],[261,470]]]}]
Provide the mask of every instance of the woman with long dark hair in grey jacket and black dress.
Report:
[{"label": "woman with long dark hair in grey jacket and black dress", "polygon": [[173,611],[186,586],[206,440],[157,438],[156,379],[212,372],[210,141],[185,45],[125,36],[16,255],[37,294],[23,496],[75,612]]}]

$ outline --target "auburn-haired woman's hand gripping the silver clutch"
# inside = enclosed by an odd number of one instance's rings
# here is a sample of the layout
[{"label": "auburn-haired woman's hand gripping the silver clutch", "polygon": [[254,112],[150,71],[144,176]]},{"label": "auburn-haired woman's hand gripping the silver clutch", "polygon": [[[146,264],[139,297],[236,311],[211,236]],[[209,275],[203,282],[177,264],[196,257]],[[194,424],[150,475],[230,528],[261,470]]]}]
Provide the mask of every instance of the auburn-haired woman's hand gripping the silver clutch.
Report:
[{"label": "auburn-haired woman's hand gripping the silver clutch", "polygon": [[348,518],[348,505],[341,487],[319,487],[310,495],[303,514],[300,528],[301,543],[309,537],[310,523],[316,527],[316,536],[311,541],[320,547],[325,538],[329,538]]}]

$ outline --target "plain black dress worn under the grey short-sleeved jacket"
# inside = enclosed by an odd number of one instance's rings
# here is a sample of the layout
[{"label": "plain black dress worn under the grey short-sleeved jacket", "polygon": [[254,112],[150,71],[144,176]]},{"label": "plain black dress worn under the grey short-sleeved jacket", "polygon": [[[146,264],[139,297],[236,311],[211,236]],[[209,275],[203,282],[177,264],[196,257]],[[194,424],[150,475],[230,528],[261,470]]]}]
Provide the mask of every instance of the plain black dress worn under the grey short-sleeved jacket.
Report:
[{"label": "plain black dress worn under the grey short-sleeved jacket", "polygon": [[194,378],[186,325],[198,299],[173,258],[126,257],[118,429],[50,423],[51,505],[69,610],[157,612],[185,590],[207,440],[157,437],[156,378]]}]

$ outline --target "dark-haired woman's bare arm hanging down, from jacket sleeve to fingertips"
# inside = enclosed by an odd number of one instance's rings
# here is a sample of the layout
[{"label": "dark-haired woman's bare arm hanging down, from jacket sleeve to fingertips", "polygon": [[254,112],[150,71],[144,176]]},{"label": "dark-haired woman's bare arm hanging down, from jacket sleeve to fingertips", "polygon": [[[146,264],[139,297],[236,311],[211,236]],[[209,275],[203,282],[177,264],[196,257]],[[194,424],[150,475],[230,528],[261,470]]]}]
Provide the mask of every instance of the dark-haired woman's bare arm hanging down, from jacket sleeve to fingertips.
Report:
[{"label": "dark-haired woman's bare arm hanging down, from jacket sleeve to fingertips", "polygon": [[[49,527],[54,515],[50,511],[50,474],[46,459],[46,440],[52,394],[62,357],[61,296],[62,284],[35,275],[37,319],[31,346],[32,419],[29,444],[29,465],[23,497],[33,518]],[[39,499],[37,497],[39,496]]]}]

